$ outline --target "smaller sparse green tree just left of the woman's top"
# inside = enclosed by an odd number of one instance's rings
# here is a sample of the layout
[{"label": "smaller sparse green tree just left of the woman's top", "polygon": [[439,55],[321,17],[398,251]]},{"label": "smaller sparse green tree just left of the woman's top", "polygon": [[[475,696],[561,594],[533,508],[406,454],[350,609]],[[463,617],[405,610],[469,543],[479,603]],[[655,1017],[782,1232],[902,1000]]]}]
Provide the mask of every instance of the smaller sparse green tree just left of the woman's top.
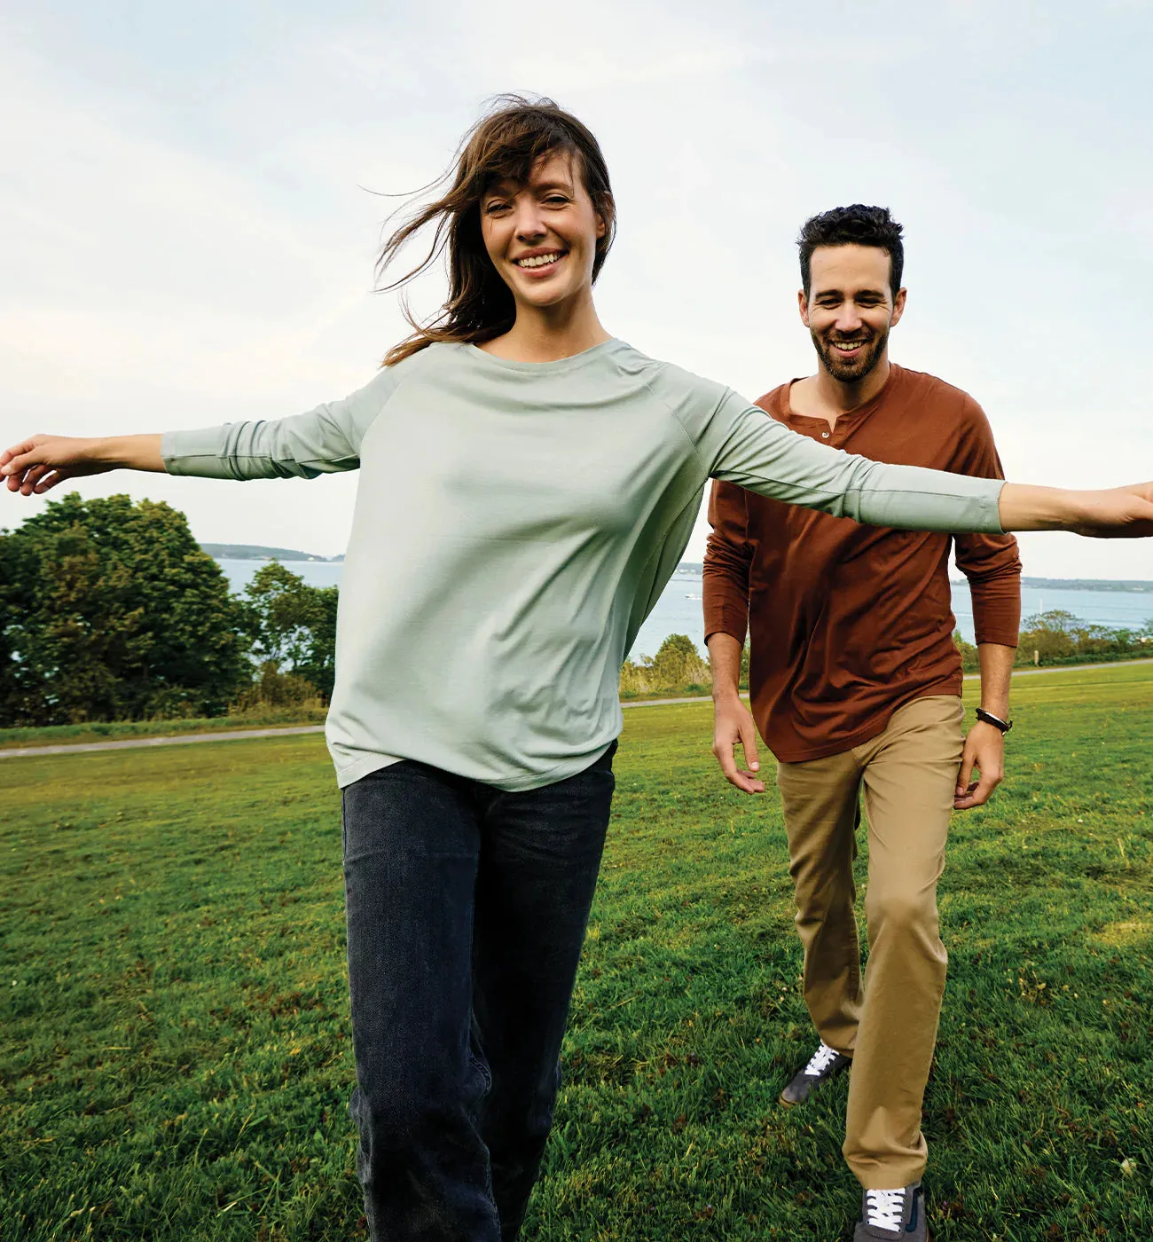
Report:
[{"label": "smaller sparse green tree just left of the woman's top", "polygon": [[335,586],[309,586],[279,561],[262,565],[245,587],[253,655],[279,673],[304,678],[325,697],[336,668]]}]

